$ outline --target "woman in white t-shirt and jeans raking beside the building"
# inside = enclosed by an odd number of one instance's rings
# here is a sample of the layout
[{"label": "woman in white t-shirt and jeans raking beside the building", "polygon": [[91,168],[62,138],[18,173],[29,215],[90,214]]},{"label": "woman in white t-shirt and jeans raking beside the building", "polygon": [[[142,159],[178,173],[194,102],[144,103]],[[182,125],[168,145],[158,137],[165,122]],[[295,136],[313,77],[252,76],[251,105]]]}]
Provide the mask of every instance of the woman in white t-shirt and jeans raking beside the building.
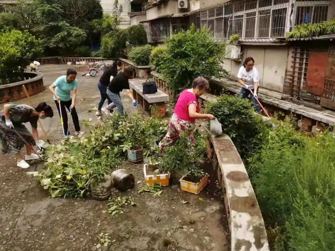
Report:
[{"label": "woman in white t-shirt and jeans raking beside the building", "polygon": [[[257,96],[257,89],[258,89],[258,81],[259,81],[259,74],[257,69],[254,67],[255,60],[252,57],[246,58],[241,66],[239,73],[237,74],[237,78],[239,83],[243,85],[239,96],[241,98],[247,98],[250,94],[251,101],[255,107],[256,112],[260,112],[261,108],[256,100]],[[254,95],[251,94],[251,91]]]}]

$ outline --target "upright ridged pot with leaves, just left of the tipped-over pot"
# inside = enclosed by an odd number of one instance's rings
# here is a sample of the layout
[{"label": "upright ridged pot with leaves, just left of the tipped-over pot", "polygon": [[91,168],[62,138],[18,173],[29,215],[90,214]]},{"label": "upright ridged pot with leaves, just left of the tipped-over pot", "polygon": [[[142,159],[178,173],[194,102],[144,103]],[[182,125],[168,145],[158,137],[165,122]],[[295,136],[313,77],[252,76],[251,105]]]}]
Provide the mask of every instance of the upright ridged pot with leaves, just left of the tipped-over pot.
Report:
[{"label": "upright ridged pot with leaves, just left of the tipped-over pot", "polygon": [[92,197],[95,200],[107,200],[111,195],[112,186],[109,166],[92,163],[89,170]]}]

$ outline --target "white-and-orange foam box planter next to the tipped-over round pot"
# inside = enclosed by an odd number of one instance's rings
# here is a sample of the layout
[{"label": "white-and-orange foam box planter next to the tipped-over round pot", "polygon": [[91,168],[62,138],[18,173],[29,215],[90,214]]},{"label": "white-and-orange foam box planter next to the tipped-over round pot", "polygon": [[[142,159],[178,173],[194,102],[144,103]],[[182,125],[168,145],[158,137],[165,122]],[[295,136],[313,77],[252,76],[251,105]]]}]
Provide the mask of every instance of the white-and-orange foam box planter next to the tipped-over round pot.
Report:
[{"label": "white-and-orange foam box planter next to the tipped-over round pot", "polygon": [[160,158],[151,157],[148,164],[143,167],[145,183],[152,186],[159,183],[161,186],[168,186],[170,183],[170,171],[165,170]]}]

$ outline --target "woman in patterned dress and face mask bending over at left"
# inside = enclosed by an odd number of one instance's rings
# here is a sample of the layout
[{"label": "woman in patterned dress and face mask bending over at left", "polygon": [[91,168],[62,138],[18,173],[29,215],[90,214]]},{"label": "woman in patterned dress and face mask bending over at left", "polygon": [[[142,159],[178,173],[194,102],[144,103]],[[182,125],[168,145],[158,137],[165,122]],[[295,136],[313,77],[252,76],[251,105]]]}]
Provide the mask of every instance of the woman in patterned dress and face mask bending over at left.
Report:
[{"label": "woman in patterned dress and face mask bending over at left", "polygon": [[[24,141],[15,133],[19,133],[30,146],[42,148],[37,132],[37,121],[39,118],[52,117],[52,108],[45,102],[40,103],[36,108],[29,105],[6,104],[0,111],[0,146],[2,153],[14,153],[17,159],[17,166],[28,168],[29,164],[25,160],[38,159],[39,156],[31,153],[31,149],[26,145],[26,155],[22,158],[21,148],[25,145]],[[32,135],[22,124],[30,122]],[[15,131],[14,131],[15,130]]]}]

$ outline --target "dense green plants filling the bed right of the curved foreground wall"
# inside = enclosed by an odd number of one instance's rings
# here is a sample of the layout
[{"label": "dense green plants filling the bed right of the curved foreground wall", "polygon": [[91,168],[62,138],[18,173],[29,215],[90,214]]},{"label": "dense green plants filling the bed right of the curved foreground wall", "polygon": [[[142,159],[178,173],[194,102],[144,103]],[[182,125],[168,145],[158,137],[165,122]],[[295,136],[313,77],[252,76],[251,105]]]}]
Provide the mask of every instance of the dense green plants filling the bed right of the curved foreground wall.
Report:
[{"label": "dense green plants filling the bed right of the curved foreground wall", "polygon": [[251,107],[237,97],[221,96],[207,110],[219,119],[242,153],[268,224],[271,249],[333,250],[334,135],[306,137],[283,121],[276,121],[279,127],[274,130],[253,118]]}]

